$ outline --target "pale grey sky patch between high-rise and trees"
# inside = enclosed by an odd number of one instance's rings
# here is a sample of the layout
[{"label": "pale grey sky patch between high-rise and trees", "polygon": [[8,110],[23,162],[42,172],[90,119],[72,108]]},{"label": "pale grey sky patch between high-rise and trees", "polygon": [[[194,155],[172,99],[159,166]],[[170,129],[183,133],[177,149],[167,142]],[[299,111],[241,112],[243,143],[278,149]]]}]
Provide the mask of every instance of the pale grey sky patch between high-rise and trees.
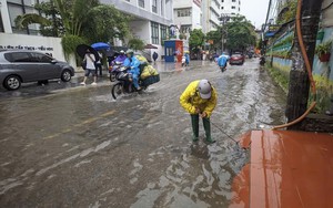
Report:
[{"label": "pale grey sky patch between high-rise and trees", "polygon": [[241,14],[260,29],[265,21],[269,2],[270,0],[241,0]]}]

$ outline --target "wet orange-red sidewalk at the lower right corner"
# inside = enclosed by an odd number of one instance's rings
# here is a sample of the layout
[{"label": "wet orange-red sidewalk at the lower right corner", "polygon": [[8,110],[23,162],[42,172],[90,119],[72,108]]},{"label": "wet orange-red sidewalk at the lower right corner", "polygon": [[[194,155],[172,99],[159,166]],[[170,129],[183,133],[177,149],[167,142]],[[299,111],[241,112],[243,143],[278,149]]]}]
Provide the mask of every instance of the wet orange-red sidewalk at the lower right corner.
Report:
[{"label": "wet orange-red sidewalk at the lower right corner", "polygon": [[333,135],[252,131],[249,165],[234,178],[230,207],[333,207]]}]

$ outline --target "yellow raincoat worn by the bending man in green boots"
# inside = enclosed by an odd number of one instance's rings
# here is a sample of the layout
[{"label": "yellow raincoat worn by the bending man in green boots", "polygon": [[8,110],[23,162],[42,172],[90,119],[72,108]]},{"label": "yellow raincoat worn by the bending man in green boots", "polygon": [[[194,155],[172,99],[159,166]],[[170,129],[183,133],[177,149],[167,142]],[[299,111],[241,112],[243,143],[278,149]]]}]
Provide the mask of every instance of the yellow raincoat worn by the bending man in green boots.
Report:
[{"label": "yellow raincoat worn by the bending man in green boots", "polygon": [[199,82],[200,80],[193,81],[189,84],[189,86],[180,96],[180,104],[190,114],[196,114],[195,108],[199,108],[201,113],[205,112],[208,117],[210,117],[216,106],[218,101],[215,89],[212,86],[211,98],[201,98],[200,93],[196,90]]}]

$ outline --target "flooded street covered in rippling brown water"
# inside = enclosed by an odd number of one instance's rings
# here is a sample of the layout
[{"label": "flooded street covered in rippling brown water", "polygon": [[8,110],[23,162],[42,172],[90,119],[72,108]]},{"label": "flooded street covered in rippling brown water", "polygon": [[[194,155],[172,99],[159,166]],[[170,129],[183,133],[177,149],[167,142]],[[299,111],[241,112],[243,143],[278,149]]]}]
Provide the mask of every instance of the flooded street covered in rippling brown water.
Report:
[{"label": "flooded street covered in rippling brown water", "polygon": [[[160,70],[159,83],[117,101],[110,83],[1,97],[0,207],[228,207],[249,160],[229,136],[285,121],[285,94],[258,62]],[[200,79],[218,92],[211,145],[201,121],[192,143],[179,104]]]}]

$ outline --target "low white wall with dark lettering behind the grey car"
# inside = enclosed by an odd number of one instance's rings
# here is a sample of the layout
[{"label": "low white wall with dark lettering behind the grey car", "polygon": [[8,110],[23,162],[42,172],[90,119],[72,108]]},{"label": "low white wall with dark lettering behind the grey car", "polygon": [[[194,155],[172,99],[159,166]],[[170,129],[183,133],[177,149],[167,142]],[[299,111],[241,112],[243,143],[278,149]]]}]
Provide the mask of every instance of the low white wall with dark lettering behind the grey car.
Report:
[{"label": "low white wall with dark lettering behind the grey car", "polygon": [[[0,33],[0,49],[33,50],[51,53],[54,59],[65,61],[60,38]],[[70,64],[77,66],[72,61]]]}]

